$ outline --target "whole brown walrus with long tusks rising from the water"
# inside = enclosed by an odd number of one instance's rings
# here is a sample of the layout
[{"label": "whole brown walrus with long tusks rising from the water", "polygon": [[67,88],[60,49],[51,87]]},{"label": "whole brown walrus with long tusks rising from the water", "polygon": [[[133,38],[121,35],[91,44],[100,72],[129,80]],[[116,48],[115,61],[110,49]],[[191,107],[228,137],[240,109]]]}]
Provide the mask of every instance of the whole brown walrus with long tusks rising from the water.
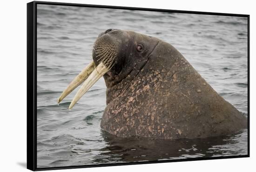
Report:
[{"label": "whole brown walrus with long tusks rising from the water", "polygon": [[93,61],[63,91],[83,81],[72,108],[104,77],[101,128],[118,137],[206,138],[247,127],[247,117],[225,101],[172,45],[133,31],[108,29],[94,43]]}]

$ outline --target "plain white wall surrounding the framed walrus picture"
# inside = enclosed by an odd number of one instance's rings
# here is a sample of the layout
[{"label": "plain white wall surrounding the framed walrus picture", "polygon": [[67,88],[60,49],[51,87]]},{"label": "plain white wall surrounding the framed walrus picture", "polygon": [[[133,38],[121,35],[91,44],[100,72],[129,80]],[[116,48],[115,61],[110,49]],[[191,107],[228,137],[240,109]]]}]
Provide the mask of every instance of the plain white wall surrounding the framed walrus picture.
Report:
[{"label": "plain white wall surrounding the framed walrus picture", "polygon": [[[256,106],[256,11],[253,0],[54,0],[85,4],[133,6],[218,13],[250,14],[250,123]],[[2,0],[0,4],[0,171],[26,171],[26,34],[28,0]],[[254,68],[254,69],[253,69]],[[98,167],[60,172],[251,171],[255,168],[255,126],[250,129],[251,158]]]}]

